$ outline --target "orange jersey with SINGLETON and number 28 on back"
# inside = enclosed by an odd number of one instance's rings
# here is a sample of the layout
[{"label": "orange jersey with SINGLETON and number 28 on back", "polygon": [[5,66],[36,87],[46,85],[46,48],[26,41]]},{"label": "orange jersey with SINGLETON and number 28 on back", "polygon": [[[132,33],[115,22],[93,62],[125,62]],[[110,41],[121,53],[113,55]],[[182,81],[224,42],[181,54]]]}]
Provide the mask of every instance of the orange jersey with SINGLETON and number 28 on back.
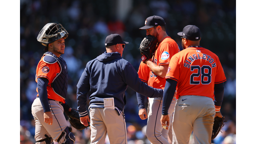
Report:
[{"label": "orange jersey with SINGLETON and number 28 on back", "polygon": [[177,95],[199,95],[214,99],[214,84],[226,81],[220,60],[201,46],[188,47],[170,61],[166,79],[177,81]]}]

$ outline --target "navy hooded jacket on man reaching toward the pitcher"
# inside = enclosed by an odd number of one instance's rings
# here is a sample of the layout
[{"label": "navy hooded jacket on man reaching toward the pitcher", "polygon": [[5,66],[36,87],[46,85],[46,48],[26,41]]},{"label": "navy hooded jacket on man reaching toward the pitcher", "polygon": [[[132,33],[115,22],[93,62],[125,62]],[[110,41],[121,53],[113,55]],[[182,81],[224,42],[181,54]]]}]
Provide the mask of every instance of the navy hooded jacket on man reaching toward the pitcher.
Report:
[{"label": "navy hooded jacket on man reaching toward the pitcher", "polygon": [[139,79],[130,62],[118,52],[99,55],[89,61],[77,84],[77,110],[80,117],[87,116],[87,95],[90,108],[104,108],[103,98],[114,98],[115,110],[120,115],[125,105],[125,90],[134,91],[147,97],[163,97],[163,90],[148,86]]}]

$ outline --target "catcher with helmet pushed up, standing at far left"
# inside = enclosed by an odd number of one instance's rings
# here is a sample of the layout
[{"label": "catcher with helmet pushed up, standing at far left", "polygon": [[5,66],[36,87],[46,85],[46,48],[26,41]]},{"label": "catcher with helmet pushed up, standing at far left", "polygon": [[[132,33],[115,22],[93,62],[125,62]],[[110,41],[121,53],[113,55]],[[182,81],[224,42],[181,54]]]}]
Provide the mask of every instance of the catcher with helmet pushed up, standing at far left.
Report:
[{"label": "catcher with helmet pushed up, standing at far left", "polygon": [[71,118],[79,118],[78,111],[65,101],[67,98],[68,67],[60,56],[64,54],[66,29],[57,23],[46,24],[37,36],[37,40],[45,46],[36,68],[38,92],[31,111],[35,119],[36,144],[74,144],[75,136],[68,127],[63,111]]}]

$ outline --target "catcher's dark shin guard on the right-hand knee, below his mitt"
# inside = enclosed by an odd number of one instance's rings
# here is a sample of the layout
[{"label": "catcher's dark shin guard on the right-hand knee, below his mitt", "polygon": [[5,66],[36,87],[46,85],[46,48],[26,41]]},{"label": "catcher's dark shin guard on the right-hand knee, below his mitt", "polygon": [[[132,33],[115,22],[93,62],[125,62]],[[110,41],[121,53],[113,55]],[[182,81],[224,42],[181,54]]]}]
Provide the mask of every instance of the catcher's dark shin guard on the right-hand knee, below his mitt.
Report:
[{"label": "catcher's dark shin guard on the right-hand knee, below his mitt", "polygon": [[60,137],[58,138],[57,142],[64,136],[64,143],[62,144],[74,144],[76,141],[75,135],[72,133],[71,127],[66,127],[64,131],[61,133]]}]

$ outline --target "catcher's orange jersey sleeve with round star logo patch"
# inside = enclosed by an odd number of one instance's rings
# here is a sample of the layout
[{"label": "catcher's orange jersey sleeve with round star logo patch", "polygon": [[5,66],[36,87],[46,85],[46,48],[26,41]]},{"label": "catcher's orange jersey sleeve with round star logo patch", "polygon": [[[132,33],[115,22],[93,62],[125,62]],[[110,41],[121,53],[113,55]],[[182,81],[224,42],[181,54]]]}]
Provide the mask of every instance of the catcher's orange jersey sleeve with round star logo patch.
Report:
[{"label": "catcher's orange jersey sleeve with round star logo patch", "polygon": [[38,73],[37,73],[36,79],[39,77],[44,77],[50,81],[51,77],[56,72],[56,69],[58,67],[59,67],[58,63],[48,64],[48,63],[45,63],[44,61],[41,61],[38,65]]}]

